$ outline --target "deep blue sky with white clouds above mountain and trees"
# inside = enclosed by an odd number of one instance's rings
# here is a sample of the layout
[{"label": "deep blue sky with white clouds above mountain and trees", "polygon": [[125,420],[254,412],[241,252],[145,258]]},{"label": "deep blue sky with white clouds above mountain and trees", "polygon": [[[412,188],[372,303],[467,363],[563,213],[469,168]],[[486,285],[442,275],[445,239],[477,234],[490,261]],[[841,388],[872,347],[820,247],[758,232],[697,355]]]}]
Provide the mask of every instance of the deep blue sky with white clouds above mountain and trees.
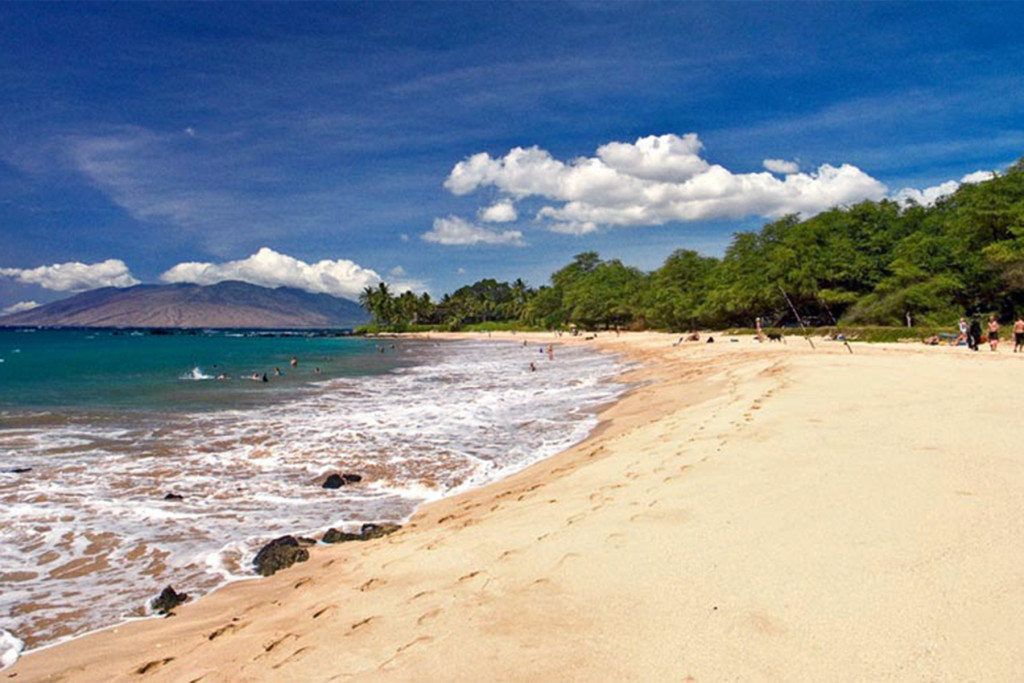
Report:
[{"label": "deep blue sky with white clouds above mountain and trees", "polygon": [[0,310],[531,286],[1024,156],[1024,3],[0,3]]}]

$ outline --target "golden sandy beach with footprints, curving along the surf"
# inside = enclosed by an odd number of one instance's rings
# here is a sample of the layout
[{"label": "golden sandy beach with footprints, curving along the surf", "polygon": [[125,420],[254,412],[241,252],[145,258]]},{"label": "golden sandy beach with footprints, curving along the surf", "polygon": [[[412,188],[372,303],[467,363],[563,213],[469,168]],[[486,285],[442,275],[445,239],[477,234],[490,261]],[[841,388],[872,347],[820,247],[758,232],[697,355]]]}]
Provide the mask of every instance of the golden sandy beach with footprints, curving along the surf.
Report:
[{"label": "golden sandy beach with footprints, curving along the surf", "polygon": [[1024,679],[1024,357],[675,339],[561,338],[644,366],[555,458],[0,676]]}]

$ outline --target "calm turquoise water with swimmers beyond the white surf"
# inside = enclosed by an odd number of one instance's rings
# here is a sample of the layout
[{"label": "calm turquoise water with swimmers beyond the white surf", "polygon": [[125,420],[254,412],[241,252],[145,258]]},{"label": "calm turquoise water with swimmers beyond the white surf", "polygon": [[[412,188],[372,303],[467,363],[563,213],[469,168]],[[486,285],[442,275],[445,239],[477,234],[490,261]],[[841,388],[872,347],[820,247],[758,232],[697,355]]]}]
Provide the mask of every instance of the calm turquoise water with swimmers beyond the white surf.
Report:
[{"label": "calm turquoise water with swimmers beyond the white surf", "polygon": [[[0,330],[0,409],[259,405],[314,382],[379,375],[403,365],[386,352],[389,345],[384,353],[381,346],[356,337],[301,334]],[[255,382],[254,374],[266,374],[268,381]]]}]

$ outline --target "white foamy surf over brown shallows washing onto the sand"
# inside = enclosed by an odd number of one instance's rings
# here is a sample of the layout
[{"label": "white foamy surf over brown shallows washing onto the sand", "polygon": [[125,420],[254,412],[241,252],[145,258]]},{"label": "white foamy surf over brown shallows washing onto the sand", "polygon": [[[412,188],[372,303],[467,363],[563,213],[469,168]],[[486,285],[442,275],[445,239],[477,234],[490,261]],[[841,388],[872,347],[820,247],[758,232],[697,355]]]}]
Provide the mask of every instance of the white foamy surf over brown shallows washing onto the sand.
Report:
[{"label": "white foamy surf over brown shallows washing onto the sand", "polygon": [[[622,391],[620,366],[538,349],[399,344],[414,365],[259,410],[0,429],[0,462],[32,468],[0,477],[4,626],[36,648],[142,616],[169,584],[198,596],[251,578],[274,537],[400,523],[564,450]],[[364,481],[325,489],[332,472]]]}]

